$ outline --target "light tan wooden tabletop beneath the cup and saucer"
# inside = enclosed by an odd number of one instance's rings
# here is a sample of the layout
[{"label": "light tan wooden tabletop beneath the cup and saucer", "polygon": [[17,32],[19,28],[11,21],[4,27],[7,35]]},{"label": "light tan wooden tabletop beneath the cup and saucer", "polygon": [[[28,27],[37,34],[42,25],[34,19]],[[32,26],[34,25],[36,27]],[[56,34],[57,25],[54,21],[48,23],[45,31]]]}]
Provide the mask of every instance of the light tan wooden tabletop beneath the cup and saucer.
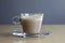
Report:
[{"label": "light tan wooden tabletop beneath the cup and saucer", "polygon": [[21,26],[0,25],[0,43],[65,43],[65,25],[43,25],[41,31],[52,31],[43,38],[18,38],[9,33],[12,30],[22,31]]}]

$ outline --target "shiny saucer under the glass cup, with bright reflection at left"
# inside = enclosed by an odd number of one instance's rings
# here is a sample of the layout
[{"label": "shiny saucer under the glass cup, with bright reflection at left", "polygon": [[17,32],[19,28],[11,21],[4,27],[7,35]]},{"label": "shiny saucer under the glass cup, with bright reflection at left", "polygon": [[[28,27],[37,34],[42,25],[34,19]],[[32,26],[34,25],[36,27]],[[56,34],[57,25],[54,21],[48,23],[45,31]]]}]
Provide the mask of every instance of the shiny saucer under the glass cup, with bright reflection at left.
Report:
[{"label": "shiny saucer under the glass cup, with bright reflection at left", "polygon": [[44,32],[40,32],[40,33],[30,33],[30,34],[27,34],[27,33],[22,32],[22,31],[13,31],[13,32],[11,32],[12,35],[22,37],[22,38],[46,37],[46,35],[49,35],[51,33],[52,33],[51,31],[44,31]]}]

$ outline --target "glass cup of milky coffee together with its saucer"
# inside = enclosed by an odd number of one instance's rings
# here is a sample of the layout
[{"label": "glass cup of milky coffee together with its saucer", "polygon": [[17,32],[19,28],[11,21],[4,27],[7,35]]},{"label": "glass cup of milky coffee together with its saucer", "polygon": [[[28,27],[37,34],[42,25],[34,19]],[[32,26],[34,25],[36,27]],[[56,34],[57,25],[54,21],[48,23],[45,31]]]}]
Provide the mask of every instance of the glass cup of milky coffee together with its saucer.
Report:
[{"label": "glass cup of milky coffee together with its saucer", "polygon": [[[20,22],[15,22],[14,19],[17,18]],[[13,31],[13,35],[18,37],[41,37],[44,34],[49,34],[49,32],[41,33],[41,25],[43,19],[43,13],[21,13],[21,16],[14,16],[13,23],[23,27],[23,32]]]}]

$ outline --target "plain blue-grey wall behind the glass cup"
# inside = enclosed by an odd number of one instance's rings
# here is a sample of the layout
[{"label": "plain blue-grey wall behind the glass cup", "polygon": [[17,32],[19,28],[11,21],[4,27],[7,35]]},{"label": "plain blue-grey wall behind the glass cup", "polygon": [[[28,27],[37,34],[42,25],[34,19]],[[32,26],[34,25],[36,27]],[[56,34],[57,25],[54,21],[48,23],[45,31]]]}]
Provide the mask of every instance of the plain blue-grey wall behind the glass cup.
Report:
[{"label": "plain blue-grey wall behind the glass cup", "polygon": [[65,0],[0,0],[0,24],[21,13],[43,13],[43,24],[65,24]]}]

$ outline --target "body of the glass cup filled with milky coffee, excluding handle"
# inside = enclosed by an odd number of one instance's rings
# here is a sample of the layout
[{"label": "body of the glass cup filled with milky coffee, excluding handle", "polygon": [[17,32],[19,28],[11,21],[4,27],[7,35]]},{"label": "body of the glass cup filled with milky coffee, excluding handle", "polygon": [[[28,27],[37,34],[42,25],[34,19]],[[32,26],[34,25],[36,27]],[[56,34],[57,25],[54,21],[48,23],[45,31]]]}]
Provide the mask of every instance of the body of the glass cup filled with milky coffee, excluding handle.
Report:
[{"label": "body of the glass cup filled with milky coffee, excluding handle", "polygon": [[22,13],[21,25],[23,32],[29,35],[40,33],[42,25],[43,13]]}]

